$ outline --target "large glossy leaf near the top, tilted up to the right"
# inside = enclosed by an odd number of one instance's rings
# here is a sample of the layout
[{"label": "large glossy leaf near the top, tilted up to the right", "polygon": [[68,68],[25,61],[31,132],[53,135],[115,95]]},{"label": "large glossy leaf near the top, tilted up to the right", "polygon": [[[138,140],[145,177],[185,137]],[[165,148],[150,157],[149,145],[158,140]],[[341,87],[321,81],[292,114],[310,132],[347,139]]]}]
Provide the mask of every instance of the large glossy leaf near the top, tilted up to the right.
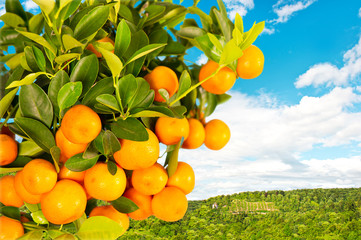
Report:
[{"label": "large glossy leaf near the top, tilted up to the right", "polygon": [[76,25],[74,29],[74,37],[78,40],[89,37],[96,31],[98,31],[109,16],[108,6],[95,7],[89,13],[87,13]]}]

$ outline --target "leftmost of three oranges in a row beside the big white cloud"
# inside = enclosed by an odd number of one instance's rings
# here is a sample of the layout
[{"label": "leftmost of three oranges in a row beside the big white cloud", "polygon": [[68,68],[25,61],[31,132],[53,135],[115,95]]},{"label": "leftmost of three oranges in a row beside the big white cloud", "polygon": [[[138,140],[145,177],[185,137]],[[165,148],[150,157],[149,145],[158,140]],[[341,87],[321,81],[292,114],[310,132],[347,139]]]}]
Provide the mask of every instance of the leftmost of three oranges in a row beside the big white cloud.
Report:
[{"label": "leftmost of three oranges in a row beside the big white cloud", "polygon": [[155,124],[155,134],[163,144],[177,144],[182,137],[186,140],[189,135],[188,120],[187,118],[160,117]]}]

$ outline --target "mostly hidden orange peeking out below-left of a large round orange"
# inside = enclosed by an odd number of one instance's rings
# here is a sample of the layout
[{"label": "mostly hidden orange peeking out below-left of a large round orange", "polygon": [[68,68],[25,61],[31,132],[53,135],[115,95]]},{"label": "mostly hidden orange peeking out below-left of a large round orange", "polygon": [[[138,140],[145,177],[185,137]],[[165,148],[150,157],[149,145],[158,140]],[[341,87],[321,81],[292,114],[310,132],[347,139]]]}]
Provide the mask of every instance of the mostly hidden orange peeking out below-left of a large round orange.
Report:
[{"label": "mostly hidden orange peeking out below-left of a large round orange", "polygon": [[[61,128],[55,134],[56,146],[60,148],[61,155],[64,159],[69,159],[75,154],[82,153],[88,146],[87,143],[72,143],[63,134]],[[61,161],[62,162],[62,161]]]}]

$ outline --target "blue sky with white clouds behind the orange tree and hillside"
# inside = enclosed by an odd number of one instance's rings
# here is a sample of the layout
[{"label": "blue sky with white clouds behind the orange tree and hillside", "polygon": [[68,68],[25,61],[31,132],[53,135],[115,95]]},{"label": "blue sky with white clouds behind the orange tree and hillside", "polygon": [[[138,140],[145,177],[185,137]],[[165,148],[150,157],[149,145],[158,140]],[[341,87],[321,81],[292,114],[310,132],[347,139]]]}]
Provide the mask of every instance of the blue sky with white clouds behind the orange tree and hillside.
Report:
[{"label": "blue sky with white clouds behind the orange tree and hillside", "polygon": [[[175,0],[178,3],[178,0]],[[192,0],[183,5],[192,5]],[[206,13],[216,0],[201,0]],[[233,97],[209,117],[231,128],[220,151],[181,150],[196,173],[189,199],[241,191],[361,187],[361,2],[226,0],[265,55],[256,79],[238,79]],[[28,10],[32,1],[23,1]],[[0,14],[4,1],[0,0]],[[187,59],[205,63],[192,49]]]}]

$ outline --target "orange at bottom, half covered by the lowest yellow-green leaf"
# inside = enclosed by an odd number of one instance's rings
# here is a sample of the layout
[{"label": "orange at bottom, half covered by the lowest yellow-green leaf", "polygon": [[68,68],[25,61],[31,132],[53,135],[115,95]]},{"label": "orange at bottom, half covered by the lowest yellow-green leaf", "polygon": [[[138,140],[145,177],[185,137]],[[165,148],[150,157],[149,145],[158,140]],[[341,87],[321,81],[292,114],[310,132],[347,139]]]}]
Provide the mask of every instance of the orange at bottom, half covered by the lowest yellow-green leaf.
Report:
[{"label": "orange at bottom, half covered by the lowest yellow-green leaf", "polygon": [[121,235],[123,235],[129,228],[128,215],[118,212],[112,205],[93,208],[93,210],[89,214],[89,217],[95,217],[95,216],[104,216],[119,223],[119,225],[122,226],[123,228]]}]

